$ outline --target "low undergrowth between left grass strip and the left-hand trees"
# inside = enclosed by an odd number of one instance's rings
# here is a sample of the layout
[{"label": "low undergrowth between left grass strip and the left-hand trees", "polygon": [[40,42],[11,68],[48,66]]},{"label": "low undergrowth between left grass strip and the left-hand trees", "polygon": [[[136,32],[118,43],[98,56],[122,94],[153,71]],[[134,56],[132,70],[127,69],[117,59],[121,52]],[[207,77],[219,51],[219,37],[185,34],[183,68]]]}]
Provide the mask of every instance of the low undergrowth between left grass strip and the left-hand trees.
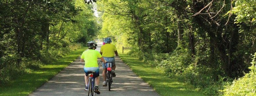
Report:
[{"label": "low undergrowth between left grass strip and the left-hand trees", "polygon": [[[14,59],[11,59],[9,57],[8,59],[1,59],[1,62],[4,62],[3,64],[8,64],[5,65],[0,70],[0,82],[1,83],[6,83],[11,80],[16,79],[16,76],[22,75],[26,72],[31,72],[32,70],[37,70],[44,65],[47,65],[51,63],[52,61],[56,61],[57,59],[62,58],[65,56],[67,53],[69,53],[72,50],[76,50],[82,47],[82,44],[79,43],[71,43],[68,45],[66,48],[49,48],[48,50],[42,50],[40,51],[41,59],[40,60],[33,60],[29,58],[22,58],[22,62],[20,66],[16,66],[16,63],[9,63],[9,62],[14,62]],[[3,57],[2,57],[3,58]],[[6,61],[3,61],[6,60]]]}]

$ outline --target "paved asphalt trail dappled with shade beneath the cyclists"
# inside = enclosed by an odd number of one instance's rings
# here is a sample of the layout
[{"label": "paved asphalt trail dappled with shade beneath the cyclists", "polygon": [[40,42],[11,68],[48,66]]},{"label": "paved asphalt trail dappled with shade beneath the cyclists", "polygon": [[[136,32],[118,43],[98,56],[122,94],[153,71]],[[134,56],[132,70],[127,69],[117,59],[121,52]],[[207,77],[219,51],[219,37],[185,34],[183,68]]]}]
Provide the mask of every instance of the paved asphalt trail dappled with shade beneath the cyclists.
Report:
[{"label": "paved asphalt trail dappled with shade beneath the cyclists", "polygon": [[[96,50],[100,51],[102,43],[98,43]],[[99,59],[98,59],[99,60]],[[135,75],[131,69],[123,63],[119,57],[115,57],[116,77],[113,77],[111,91],[103,87],[102,66],[100,66],[101,94],[96,96],[159,96],[147,83]],[[84,63],[80,57],[72,62],[67,68],[58,73],[51,80],[43,84],[29,96],[82,96],[87,95],[84,91]]]}]

